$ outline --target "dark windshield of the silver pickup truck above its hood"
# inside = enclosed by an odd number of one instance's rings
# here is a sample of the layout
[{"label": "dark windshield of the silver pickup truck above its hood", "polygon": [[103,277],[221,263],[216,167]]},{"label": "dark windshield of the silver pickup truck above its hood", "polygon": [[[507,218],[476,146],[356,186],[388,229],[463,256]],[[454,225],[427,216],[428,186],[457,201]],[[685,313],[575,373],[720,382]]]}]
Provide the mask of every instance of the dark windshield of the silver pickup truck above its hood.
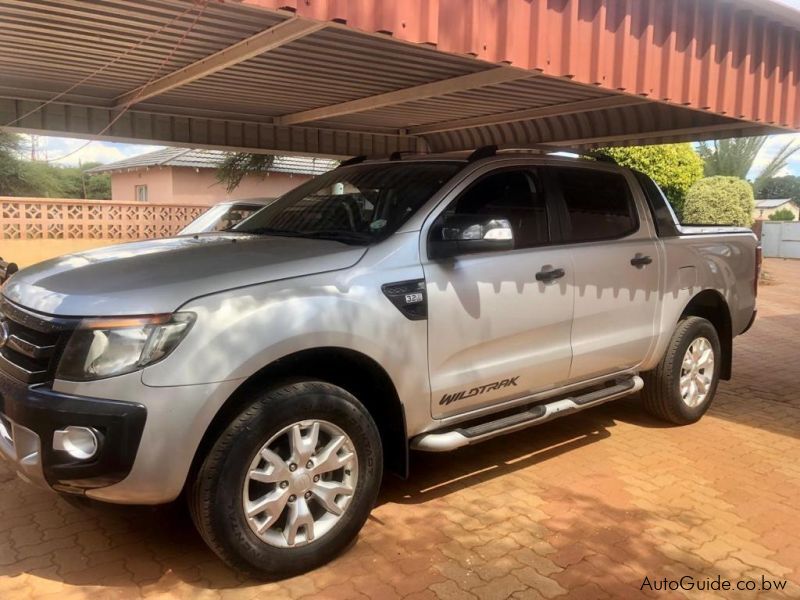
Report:
[{"label": "dark windshield of the silver pickup truck above its hood", "polygon": [[397,231],[462,166],[397,162],[335,169],[285,194],[234,231],[370,244]]}]

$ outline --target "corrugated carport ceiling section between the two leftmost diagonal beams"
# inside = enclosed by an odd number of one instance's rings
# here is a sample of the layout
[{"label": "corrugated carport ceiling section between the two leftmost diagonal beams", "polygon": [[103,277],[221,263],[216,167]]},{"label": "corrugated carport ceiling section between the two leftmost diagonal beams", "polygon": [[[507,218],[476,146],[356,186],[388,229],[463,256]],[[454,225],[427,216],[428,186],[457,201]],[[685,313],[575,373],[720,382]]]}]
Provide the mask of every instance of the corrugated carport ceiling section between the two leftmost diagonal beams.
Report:
[{"label": "corrugated carport ceiling section between the two leftmost diagonal beams", "polygon": [[323,30],[181,86],[154,105],[242,110],[273,116],[485,70],[391,38]]}]

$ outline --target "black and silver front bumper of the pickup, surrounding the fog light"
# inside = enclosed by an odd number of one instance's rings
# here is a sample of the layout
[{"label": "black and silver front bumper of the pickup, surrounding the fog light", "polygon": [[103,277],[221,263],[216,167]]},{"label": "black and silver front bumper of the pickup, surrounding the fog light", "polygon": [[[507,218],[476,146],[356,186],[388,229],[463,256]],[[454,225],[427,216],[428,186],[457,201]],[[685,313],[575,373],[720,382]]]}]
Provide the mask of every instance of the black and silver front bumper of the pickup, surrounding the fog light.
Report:
[{"label": "black and silver front bumper of the pickup, surrounding the fog light", "polygon": [[[135,402],[58,393],[0,372],[0,454],[24,479],[57,491],[81,494],[125,479],[146,417],[146,408]],[[76,460],[53,448],[53,433],[70,425],[97,432],[92,458]]]}]

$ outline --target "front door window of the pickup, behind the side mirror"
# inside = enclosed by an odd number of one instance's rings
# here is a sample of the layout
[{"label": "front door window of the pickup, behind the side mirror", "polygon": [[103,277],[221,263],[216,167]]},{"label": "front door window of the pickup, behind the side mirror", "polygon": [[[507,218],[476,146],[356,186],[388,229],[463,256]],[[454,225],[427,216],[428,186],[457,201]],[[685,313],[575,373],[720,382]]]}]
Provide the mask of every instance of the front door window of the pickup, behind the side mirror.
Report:
[{"label": "front door window of the pickup, behind the side mirror", "polygon": [[448,212],[508,219],[515,247],[530,248],[549,241],[547,210],[540,190],[532,171],[500,171],[473,183]]}]

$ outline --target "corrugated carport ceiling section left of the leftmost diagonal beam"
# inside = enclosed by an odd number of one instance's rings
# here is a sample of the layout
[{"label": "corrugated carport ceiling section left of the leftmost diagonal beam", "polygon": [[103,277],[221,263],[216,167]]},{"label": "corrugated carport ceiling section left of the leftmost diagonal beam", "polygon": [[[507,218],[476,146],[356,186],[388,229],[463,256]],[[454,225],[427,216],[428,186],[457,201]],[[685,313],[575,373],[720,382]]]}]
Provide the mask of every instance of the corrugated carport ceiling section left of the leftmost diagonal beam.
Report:
[{"label": "corrugated carport ceiling section left of the leftmost diagonal beam", "polygon": [[162,63],[162,74],[169,73],[285,19],[209,2],[191,36],[164,63],[194,18],[193,11],[181,16],[191,6],[157,0],[0,2],[0,71],[3,77],[36,72],[50,82],[73,83],[175,19],[92,79],[95,90],[114,98],[146,83]]}]

